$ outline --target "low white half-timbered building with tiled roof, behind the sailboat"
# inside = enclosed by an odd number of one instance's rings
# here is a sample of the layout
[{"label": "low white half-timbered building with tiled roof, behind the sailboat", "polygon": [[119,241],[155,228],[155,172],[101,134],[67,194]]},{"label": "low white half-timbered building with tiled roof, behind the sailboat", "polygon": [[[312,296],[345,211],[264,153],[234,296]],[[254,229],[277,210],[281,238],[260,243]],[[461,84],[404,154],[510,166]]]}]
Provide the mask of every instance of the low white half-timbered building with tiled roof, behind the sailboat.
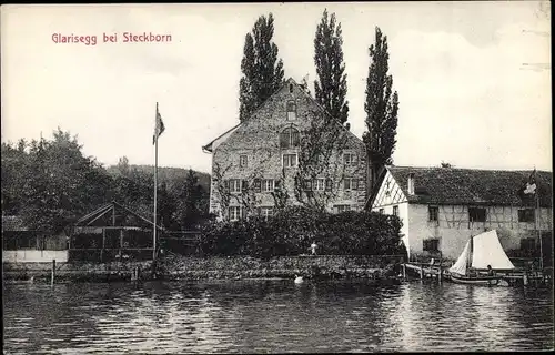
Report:
[{"label": "low white half-timbered building with tiled roof, behind the sailboat", "polygon": [[537,171],[536,194],[528,196],[519,191],[531,174],[387,166],[369,204],[373,212],[398,215],[408,257],[441,252],[454,260],[471,235],[487,230],[497,230],[506,252],[537,248],[538,235],[553,233],[553,173]]}]

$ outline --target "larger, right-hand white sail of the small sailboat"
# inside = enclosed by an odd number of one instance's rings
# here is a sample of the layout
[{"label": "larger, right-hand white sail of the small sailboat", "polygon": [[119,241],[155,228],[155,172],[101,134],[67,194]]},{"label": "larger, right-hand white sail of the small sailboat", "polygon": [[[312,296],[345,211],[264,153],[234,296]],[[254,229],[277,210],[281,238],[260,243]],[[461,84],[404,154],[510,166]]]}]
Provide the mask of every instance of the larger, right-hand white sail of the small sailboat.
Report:
[{"label": "larger, right-hand white sail of the small sailboat", "polygon": [[487,268],[487,265],[491,265],[494,270],[515,268],[507,254],[505,254],[495,230],[474,236],[472,267]]}]

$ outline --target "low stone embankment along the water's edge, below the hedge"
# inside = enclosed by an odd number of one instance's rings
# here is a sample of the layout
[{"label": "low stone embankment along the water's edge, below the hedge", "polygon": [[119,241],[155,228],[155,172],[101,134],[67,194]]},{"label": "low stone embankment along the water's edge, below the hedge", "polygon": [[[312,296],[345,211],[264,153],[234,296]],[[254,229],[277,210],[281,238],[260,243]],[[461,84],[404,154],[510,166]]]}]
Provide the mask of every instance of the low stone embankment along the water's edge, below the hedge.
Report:
[{"label": "low stone embankment along the water's edge, below the hedge", "polygon": [[[392,260],[393,258],[393,260]],[[392,256],[316,255],[279,256],[261,260],[250,256],[193,257],[172,255],[157,263],[59,263],[54,283],[122,281],[201,281],[201,280],[394,280],[401,262]],[[51,263],[2,263],[3,282],[51,283]]]}]

